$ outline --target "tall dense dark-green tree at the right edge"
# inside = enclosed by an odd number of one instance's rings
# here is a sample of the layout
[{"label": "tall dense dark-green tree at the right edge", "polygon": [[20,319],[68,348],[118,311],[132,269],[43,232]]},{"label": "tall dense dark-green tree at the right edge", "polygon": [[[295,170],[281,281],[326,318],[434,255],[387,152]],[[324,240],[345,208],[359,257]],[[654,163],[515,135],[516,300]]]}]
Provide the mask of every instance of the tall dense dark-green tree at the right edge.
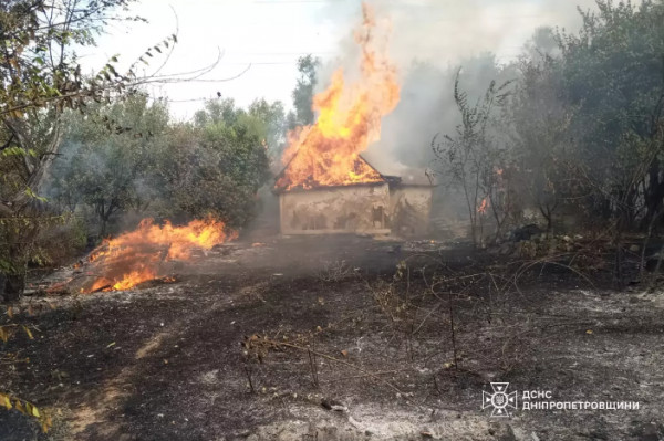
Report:
[{"label": "tall dense dark-green tree at the right edge", "polygon": [[581,12],[578,35],[559,35],[562,93],[579,107],[571,130],[596,210],[633,228],[663,208],[664,2],[598,9]]}]

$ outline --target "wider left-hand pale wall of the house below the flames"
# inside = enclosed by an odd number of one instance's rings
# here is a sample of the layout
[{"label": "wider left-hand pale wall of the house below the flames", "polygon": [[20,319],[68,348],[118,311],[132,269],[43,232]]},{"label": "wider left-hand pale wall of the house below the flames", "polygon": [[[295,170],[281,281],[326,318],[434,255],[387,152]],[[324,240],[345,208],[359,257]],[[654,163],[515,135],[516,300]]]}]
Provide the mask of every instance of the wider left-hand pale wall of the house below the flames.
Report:
[{"label": "wider left-hand pale wall of the house below the flames", "polygon": [[290,191],[279,203],[282,234],[390,233],[386,182]]}]

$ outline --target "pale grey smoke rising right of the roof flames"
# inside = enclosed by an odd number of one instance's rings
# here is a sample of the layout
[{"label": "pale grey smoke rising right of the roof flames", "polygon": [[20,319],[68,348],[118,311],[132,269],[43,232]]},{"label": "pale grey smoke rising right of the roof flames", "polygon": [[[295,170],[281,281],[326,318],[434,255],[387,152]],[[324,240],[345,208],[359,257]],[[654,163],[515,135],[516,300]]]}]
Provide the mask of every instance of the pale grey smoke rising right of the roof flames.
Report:
[{"label": "pale grey smoke rising right of the roof flames", "polygon": [[[512,63],[531,50],[528,42],[538,29],[577,31],[577,4],[593,9],[594,0],[438,0],[369,1],[387,29],[388,51],[400,71],[402,94],[396,109],[383,118],[381,140],[363,154],[381,172],[422,180],[432,158],[432,139],[449,134],[458,124],[453,91],[456,72],[469,98],[485,93],[489,83],[515,80]],[[320,90],[340,65],[352,76],[359,48],[349,32],[361,19],[360,0],[334,2],[323,9],[323,28],[345,35],[339,56],[319,71]],[[540,35],[541,36],[541,35]],[[542,43],[542,42],[539,42]],[[546,45],[547,42],[542,44]],[[540,44],[541,46],[541,44]],[[554,51],[552,45],[547,48]]]}]

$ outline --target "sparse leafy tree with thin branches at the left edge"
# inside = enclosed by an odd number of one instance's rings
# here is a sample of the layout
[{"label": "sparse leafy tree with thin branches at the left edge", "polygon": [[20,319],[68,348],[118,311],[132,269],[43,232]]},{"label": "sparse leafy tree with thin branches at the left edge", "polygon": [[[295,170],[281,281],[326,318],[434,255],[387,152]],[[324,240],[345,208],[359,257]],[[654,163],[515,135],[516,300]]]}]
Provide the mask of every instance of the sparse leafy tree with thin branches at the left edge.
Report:
[{"label": "sparse leafy tree with thin branches at the left edge", "polygon": [[[7,0],[0,4],[0,296],[22,293],[37,234],[44,222],[38,198],[45,171],[62,140],[66,108],[110,101],[144,82],[116,69],[117,56],[83,77],[74,45],[94,44],[104,24],[139,20],[125,13],[134,0]],[[172,35],[146,52],[175,43]],[[143,61],[145,59],[142,57]]]}]

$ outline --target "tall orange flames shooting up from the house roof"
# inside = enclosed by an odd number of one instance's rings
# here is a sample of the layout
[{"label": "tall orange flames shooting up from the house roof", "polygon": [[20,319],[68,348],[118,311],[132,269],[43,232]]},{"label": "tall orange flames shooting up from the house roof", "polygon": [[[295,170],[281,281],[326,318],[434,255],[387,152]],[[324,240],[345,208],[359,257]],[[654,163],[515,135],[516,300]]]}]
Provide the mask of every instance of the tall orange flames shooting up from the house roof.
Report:
[{"label": "tall orange flames shooting up from the house roof", "polygon": [[314,96],[312,107],[318,120],[289,134],[282,156],[287,167],[277,188],[383,180],[360,154],[381,138],[381,118],[396,107],[401,87],[385,45],[375,41],[377,22],[372,9],[363,3],[362,12],[363,23],[355,32],[355,42],[362,48],[361,77],[349,83],[343,69],[339,69],[328,90]]}]

